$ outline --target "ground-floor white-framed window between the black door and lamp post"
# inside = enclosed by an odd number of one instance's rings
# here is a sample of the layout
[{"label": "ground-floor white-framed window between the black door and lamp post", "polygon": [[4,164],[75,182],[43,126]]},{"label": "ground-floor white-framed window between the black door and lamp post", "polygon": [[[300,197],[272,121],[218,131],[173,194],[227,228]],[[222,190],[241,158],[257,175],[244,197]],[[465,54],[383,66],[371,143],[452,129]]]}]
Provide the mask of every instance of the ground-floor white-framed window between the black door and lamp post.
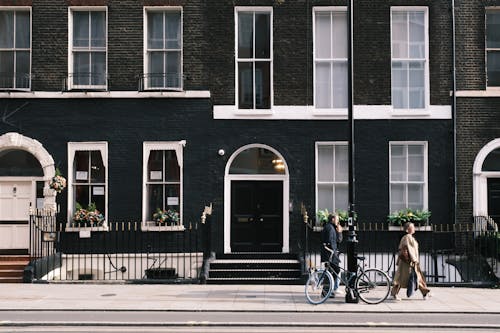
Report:
[{"label": "ground-floor white-framed window between the black door and lamp post", "polygon": [[347,210],[349,206],[347,142],[316,143],[316,211]]}]

